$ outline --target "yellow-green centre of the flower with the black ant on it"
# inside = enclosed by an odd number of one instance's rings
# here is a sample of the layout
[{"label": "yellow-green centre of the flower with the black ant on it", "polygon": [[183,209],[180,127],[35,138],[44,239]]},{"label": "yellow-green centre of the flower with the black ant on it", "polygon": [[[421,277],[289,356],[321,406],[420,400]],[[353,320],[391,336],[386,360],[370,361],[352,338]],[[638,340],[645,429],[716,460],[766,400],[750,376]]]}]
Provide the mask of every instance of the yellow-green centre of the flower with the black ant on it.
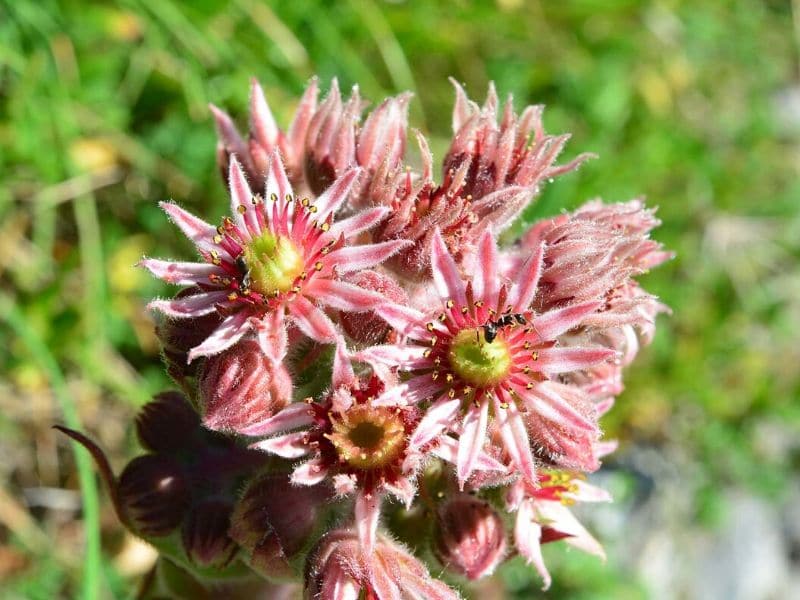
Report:
[{"label": "yellow-green centre of the flower with the black ant on it", "polygon": [[447,352],[453,372],[475,387],[495,385],[511,368],[508,344],[500,337],[487,342],[483,328],[460,331]]}]

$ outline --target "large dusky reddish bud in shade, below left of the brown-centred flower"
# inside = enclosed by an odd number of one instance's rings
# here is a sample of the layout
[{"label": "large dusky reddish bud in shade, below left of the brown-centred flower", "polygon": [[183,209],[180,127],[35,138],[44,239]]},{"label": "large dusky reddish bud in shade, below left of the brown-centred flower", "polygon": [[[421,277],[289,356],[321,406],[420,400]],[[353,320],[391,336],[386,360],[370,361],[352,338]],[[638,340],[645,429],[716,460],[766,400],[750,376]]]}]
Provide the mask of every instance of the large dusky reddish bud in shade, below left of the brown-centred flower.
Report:
[{"label": "large dusky reddish bud in shade, below left of the brown-centred flower", "polygon": [[326,486],[292,485],[285,473],[262,475],[250,482],[236,504],[229,533],[255,570],[268,577],[289,577],[289,561],[305,546],[329,498]]}]

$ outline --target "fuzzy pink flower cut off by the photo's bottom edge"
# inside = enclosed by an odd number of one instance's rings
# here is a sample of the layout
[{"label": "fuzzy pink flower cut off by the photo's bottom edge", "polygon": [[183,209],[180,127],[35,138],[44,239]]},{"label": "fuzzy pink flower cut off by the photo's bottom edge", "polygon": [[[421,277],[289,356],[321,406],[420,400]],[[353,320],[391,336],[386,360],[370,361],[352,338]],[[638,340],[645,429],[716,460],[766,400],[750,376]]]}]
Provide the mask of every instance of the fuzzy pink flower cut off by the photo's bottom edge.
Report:
[{"label": "fuzzy pink flower cut off by the photo's bottom edge", "polygon": [[457,600],[405,548],[381,536],[370,551],[355,532],[331,531],[306,563],[305,597],[315,600]]}]

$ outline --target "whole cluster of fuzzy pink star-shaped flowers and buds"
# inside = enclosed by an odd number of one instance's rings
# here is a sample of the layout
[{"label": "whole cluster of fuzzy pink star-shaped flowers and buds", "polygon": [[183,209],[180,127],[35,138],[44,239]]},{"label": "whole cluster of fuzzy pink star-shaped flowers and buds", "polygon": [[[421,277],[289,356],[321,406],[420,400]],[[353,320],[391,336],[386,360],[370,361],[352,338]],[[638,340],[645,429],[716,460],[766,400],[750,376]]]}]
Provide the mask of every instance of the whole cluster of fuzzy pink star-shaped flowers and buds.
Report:
[{"label": "whole cluster of fuzzy pink star-shaped flowers and buds", "polygon": [[[247,136],[212,107],[230,215],[163,203],[199,260],[141,261],[182,288],[149,308],[184,395],[145,407],[152,454],[107,473],[124,522],[181,568],[245,568],[309,598],[436,599],[458,593],[433,556],[457,581],[518,554],[545,587],[542,544],[603,556],[569,506],[610,499],[585,474],[667,311],[636,276],[670,254],[639,200],[499,245],[589,155],[556,164],[568,136],[545,133],[542,107],[517,115],[494,87],[479,106],[454,85],[438,182],[420,133],[421,169],[406,164],[408,94],[362,120],[357,89],[334,81],[319,102],[314,80],[284,131],[254,82]],[[164,541],[176,532],[182,546]]]}]

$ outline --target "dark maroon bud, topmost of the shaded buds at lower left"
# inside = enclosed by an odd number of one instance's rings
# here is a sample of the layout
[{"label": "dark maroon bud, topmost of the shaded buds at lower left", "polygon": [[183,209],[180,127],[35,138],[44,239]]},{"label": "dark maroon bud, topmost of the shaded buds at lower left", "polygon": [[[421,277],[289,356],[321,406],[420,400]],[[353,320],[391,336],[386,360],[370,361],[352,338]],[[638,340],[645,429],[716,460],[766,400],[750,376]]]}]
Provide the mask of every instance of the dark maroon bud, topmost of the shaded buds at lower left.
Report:
[{"label": "dark maroon bud, topmost of the shaded buds at lower left", "polygon": [[136,435],[153,452],[174,454],[190,447],[200,429],[197,416],[180,392],[162,392],[136,415]]}]

